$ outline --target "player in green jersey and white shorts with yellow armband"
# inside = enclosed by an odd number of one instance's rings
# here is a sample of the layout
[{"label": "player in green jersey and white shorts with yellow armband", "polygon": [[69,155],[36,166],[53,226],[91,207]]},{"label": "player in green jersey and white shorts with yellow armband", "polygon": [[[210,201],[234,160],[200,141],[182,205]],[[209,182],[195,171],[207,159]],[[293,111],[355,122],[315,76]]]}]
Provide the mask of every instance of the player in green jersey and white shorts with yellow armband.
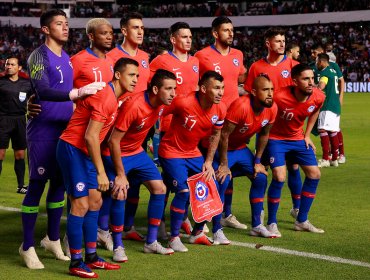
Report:
[{"label": "player in green jersey and white shorts with yellow armband", "polygon": [[[316,66],[319,72],[318,88],[325,93],[325,102],[318,118],[317,129],[320,133],[322,159],[319,167],[338,167],[338,131],[340,123],[340,92],[338,90],[338,76],[336,71],[329,65],[329,56],[321,53],[317,56]],[[329,153],[331,159],[329,160]]]}]

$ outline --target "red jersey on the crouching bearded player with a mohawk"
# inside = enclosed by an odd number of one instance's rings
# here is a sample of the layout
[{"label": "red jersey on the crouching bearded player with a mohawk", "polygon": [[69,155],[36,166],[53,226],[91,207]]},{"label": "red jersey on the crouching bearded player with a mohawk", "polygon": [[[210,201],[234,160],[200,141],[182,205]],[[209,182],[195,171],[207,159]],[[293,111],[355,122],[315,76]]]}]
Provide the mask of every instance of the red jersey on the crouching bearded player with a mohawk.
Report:
[{"label": "red jersey on the crouching bearded player with a mohawk", "polygon": [[251,96],[244,95],[235,100],[227,110],[226,120],[236,125],[229,136],[228,150],[239,150],[246,146],[247,140],[259,133],[267,124],[275,122],[277,106],[264,108],[259,116],[252,109]]}]

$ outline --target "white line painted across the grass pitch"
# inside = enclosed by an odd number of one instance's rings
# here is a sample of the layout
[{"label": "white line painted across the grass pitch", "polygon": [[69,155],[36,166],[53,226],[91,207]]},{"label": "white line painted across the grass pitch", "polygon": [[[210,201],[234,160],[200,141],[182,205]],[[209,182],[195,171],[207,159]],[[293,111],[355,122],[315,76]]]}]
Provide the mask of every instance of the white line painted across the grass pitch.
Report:
[{"label": "white line painted across the grass pitch", "polygon": [[[9,212],[21,212],[21,209],[19,208],[5,207],[1,205],[0,205],[0,210],[9,211]],[[40,213],[40,215],[46,217],[45,213]],[[63,216],[62,219],[65,220],[66,217]],[[147,230],[144,227],[139,227],[137,229],[143,230],[143,231]],[[186,234],[183,234],[182,237],[189,237],[189,236]],[[262,250],[262,251],[267,251],[267,252],[274,252],[278,254],[286,254],[286,255],[292,255],[292,256],[298,256],[298,257],[304,257],[304,258],[310,258],[310,259],[325,260],[325,261],[329,261],[333,263],[350,264],[354,266],[362,266],[362,267],[370,268],[370,263],[367,263],[367,262],[361,262],[361,261],[344,259],[340,257],[333,257],[333,256],[327,256],[327,255],[320,255],[320,254],[315,254],[315,253],[289,250],[289,249],[272,247],[272,246],[265,246],[265,245],[261,246],[261,244],[259,243],[254,244],[254,243],[247,243],[247,242],[231,241],[231,245],[250,248],[250,249],[257,249],[257,250]]]}]

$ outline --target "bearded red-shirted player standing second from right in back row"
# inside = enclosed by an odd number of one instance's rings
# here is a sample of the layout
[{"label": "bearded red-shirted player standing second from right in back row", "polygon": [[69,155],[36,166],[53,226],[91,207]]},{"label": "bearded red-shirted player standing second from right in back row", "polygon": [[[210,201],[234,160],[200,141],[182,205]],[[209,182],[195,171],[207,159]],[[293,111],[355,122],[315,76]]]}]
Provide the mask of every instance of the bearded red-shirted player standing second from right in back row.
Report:
[{"label": "bearded red-shirted player standing second from right in back row", "polygon": [[[200,76],[208,70],[222,75],[225,83],[222,102],[229,107],[239,97],[238,84],[245,80],[246,69],[243,65],[243,53],[231,47],[234,39],[234,26],[228,17],[220,16],[213,20],[212,35],[215,43],[195,53],[195,57],[199,59]],[[231,213],[232,192],[231,181],[225,194],[225,218],[221,220],[221,223],[223,226],[246,229],[247,226],[240,223]]]}]

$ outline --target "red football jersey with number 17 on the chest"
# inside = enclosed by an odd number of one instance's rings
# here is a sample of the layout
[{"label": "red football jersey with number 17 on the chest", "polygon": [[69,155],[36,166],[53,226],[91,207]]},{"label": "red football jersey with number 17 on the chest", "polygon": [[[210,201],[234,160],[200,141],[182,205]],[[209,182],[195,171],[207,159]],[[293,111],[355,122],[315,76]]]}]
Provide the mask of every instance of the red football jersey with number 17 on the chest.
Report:
[{"label": "red football jersey with number 17 on the chest", "polygon": [[164,114],[173,114],[173,118],[159,145],[159,155],[163,158],[193,158],[202,155],[198,149],[199,141],[210,136],[214,128],[222,128],[226,106],[221,102],[203,110],[198,94],[195,94],[176,97]]}]

